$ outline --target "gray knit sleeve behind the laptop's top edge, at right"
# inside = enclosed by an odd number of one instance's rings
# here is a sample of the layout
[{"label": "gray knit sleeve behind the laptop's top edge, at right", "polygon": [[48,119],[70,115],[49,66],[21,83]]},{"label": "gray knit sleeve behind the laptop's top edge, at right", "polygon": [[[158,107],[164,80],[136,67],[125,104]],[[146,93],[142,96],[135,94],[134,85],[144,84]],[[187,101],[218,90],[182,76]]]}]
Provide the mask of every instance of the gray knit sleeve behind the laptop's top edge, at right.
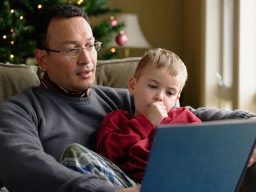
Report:
[{"label": "gray knit sleeve behind the laptop's top edge, at right", "polygon": [[230,118],[250,118],[252,116],[256,116],[254,113],[250,111],[244,110],[234,110],[228,111],[225,109],[207,109],[207,108],[198,108],[193,109],[190,106],[186,106],[192,113],[194,113],[202,122],[212,121],[212,120],[223,120]]}]

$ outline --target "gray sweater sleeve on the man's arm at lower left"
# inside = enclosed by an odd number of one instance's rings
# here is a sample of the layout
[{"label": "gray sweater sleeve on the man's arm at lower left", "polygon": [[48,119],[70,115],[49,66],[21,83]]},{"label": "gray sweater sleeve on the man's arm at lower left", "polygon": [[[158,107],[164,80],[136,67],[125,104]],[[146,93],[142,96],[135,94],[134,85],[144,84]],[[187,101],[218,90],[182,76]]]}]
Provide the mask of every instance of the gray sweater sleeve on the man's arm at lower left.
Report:
[{"label": "gray sweater sleeve on the man's arm at lower left", "polygon": [[35,111],[23,105],[12,102],[0,106],[0,178],[7,189],[19,192],[116,190],[96,176],[74,172],[46,154],[38,137]]}]

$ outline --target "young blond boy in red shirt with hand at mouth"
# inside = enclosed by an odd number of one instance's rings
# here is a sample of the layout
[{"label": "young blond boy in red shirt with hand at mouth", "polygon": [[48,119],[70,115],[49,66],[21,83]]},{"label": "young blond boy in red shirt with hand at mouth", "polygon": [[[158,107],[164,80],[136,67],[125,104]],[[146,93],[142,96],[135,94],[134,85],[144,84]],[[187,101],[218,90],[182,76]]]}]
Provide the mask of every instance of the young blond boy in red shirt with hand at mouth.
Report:
[{"label": "young blond boy in red shirt with hand at mouth", "polygon": [[152,49],[141,58],[129,93],[135,112],[117,110],[98,129],[97,152],[141,181],[156,126],[201,122],[186,108],[173,108],[188,77],[182,60],[171,51]]}]

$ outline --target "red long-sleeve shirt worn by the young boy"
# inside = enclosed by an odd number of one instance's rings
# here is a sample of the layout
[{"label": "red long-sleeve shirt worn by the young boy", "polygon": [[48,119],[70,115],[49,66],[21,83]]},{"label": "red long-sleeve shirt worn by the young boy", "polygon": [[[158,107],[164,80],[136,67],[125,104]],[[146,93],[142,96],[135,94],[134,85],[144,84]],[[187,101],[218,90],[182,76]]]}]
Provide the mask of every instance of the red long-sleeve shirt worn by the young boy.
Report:
[{"label": "red long-sleeve shirt worn by the young boy", "polygon": [[[186,108],[171,109],[161,124],[201,122]],[[155,127],[145,115],[116,110],[105,116],[98,129],[97,152],[125,173],[141,180],[147,165]]]}]

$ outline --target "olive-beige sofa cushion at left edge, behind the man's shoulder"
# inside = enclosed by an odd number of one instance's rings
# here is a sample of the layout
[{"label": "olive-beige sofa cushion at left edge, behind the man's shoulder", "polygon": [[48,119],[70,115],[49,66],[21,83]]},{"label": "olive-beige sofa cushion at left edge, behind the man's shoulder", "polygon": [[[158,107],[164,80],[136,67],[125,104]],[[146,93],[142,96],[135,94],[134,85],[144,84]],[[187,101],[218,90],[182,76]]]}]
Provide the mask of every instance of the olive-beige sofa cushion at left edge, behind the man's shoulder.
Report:
[{"label": "olive-beige sofa cushion at left edge, behind the man's shoulder", "polygon": [[36,66],[0,63],[0,102],[24,88],[40,84]]}]

